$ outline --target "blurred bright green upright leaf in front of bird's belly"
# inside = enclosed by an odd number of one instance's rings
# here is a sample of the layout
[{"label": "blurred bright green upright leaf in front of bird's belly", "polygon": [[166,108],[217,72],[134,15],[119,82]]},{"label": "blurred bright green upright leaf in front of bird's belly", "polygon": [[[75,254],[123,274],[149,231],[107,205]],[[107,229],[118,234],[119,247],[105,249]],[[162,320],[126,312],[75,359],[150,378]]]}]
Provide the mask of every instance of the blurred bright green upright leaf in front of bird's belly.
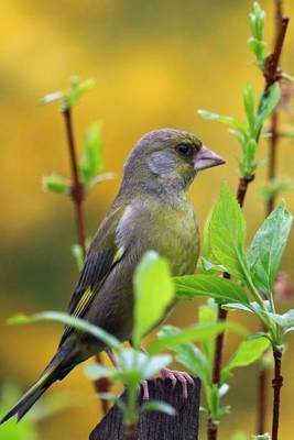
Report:
[{"label": "blurred bright green upright leaf in front of bird's belly", "polygon": [[134,272],[133,284],[133,343],[139,348],[141,339],[161,321],[173,302],[174,285],[168,263],[156,252],[146,252]]}]

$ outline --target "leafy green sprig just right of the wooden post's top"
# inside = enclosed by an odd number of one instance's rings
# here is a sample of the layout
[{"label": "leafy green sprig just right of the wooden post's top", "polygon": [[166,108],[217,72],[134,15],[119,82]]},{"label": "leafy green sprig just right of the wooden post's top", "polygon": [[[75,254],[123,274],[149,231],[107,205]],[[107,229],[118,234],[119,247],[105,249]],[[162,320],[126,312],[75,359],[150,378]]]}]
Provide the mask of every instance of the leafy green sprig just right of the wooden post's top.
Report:
[{"label": "leafy green sprig just right of the wooden post's top", "polygon": [[[221,416],[229,411],[228,406],[221,405],[221,397],[229,388],[225,381],[237,366],[246,366],[255,362],[259,354],[263,353],[270,342],[261,338],[241,342],[237,352],[231,358],[224,372],[221,372],[220,384],[216,385],[213,384],[214,346],[216,336],[225,330],[232,330],[241,336],[246,336],[247,332],[230,322],[218,322],[217,307],[211,300],[199,308],[199,323],[195,326],[195,330],[196,328],[198,328],[199,333],[197,334],[195,332],[194,338],[192,338],[190,332],[190,339],[185,340],[185,338],[183,338],[185,330],[179,330],[172,326],[165,326],[159,333],[159,342],[165,341],[164,345],[176,353],[176,360],[202,380],[206,397],[205,409],[210,414],[214,424],[219,424]],[[190,342],[192,340],[198,340],[199,346],[194,345]],[[154,346],[154,344],[157,344],[159,342],[153,342],[151,346]],[[161,348],[164,345],[161,345]],[[252,349],[252,351],[246,352],[247,349]]]}]

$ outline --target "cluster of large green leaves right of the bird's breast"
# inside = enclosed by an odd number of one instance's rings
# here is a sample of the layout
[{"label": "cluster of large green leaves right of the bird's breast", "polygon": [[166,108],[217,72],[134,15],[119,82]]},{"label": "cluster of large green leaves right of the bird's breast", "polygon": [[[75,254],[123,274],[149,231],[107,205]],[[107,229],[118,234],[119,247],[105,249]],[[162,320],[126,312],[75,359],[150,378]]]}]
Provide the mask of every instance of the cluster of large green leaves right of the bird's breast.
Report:
[{"label": "cluster of large green leaves right of the bird's breast", "polygon": [[[188,299],[210,296],[225,308],[254,314],[266,328],[268,333],[262,336],[269,338],[273,348],[280,349],[284,334],[292,331],[294,320],[292,311],[284,316],[275,314],[272,287],[291,227],[292,216],[282,202],[265,219],[247,252],[244,217],[233,195],[225,186],[206,227],[207,249],[214,264],[225,264],[237,280],[222,279],[216,273],[176,277],[176,296]],[[249,293],[254,301],[249,300]],[[263,300],[263,295],[266,295],[266,301]],[[262,351],[263,345],[269,343],[258,339],[244,342],[244,346],[251,344],[254,358],[254,353]],[[240,350],[243,350],[242,346]],[[233,362],[241,362],[241,354],[242,351],[238,353],[237,361],[233,358]],[[248,362],[251,361],[249,358]]]}]

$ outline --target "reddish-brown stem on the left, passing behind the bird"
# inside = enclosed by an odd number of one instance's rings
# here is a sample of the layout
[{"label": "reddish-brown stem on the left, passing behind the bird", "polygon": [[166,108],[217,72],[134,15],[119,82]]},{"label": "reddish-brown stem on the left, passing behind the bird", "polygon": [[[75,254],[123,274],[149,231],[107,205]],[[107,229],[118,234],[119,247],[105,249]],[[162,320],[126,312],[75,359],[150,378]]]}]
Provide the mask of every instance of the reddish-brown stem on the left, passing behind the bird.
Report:
[{"label": "reddish-brown stem on the left, passing behind the bird", "polygon": [[[76,227],[77,227],[77,237],[78,243],[83,249],[84,258],[86,256],[86,227],[85,227],[85,215],[84,215],[84,199],[85,199],[85,190],[84,185],[79,180],[78,176],[78,165],[77,165],[77,154],[76,154],[76,144],[75,144],[75,136],[73,130],[73,121],[72,121],[72,109],[68,106],[63,106],[62,114],[64,117],[65,122],[65,130],[66,130],[66,139],[67,139],[67,146],[68,146],[68,154],[70,160],[70,169],[73,176],[73,184],[72,184],[72,191],[70,196],[73,199],[73,204],[75,207],[75,215],[76,215]],[[96,354],[96,362],[101,364],[101,356],[99,353]],[[107,393],[110,388],[109,380],[100,378],[94,381],[94,387],[96,393]],[[104,415],[108,411],[109,405],[107,400],[100,400]]]}]

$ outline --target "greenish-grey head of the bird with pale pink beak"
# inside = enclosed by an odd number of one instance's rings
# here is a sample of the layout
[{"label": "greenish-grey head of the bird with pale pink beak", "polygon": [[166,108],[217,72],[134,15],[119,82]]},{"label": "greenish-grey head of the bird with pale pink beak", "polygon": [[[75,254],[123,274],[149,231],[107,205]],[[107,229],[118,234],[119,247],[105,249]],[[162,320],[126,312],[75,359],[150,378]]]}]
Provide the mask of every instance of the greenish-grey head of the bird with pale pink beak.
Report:
[{"label": "greenish-grey head of the bird with pale pink beak", "polygon": [[196,174],[225,164],[194,135],[179,130],[155,130],[145,134],[131,151],[123,184],[152,191],[185,190]]}]

